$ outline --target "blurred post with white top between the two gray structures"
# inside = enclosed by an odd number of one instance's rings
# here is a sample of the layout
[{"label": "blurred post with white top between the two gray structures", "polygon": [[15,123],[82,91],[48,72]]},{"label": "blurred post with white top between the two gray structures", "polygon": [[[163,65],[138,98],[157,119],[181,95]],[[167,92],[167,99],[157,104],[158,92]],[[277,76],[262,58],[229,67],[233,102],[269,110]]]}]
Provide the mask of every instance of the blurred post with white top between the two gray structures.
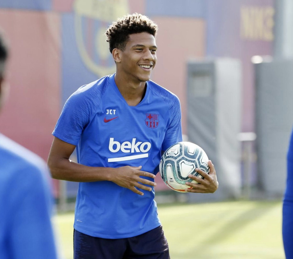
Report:
[{"label": "blurred post with white top between the two gray structures", "polygon": [[253,162],[253,141],[256,139],[254,132],[241,132],[238,134],[238,140],[243,143],[243,191],[242,197],[250,198],[251,193],[251,165]]}]

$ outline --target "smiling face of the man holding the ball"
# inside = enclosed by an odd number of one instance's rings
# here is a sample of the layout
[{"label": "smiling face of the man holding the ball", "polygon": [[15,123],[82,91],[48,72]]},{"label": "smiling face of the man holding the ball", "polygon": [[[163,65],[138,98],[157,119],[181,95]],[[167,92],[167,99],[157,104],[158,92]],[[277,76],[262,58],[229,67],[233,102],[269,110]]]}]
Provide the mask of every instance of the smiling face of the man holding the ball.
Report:
[{"label": "smiling face of the man holding the ball", "polygon": [[113,55],[117,64],[116,73],[133,82],[148,81],[156,65],[156,50],[153,35],[146,32],[130,34],[125,50],[114,50],[119,53],[117,59]]}]

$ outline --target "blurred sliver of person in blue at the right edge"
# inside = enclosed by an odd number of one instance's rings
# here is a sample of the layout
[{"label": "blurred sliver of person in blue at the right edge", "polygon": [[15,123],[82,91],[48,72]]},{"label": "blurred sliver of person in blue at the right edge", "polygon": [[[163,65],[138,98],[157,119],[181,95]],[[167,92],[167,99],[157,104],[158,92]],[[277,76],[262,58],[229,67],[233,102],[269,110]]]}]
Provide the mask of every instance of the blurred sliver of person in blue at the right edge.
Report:
[{"label": "blurred sliver of person in blue at the right edge", "polygon": [[283,200],[282,233],[286,259],[293,259],[293,131],[287,153],[287,184]]}]

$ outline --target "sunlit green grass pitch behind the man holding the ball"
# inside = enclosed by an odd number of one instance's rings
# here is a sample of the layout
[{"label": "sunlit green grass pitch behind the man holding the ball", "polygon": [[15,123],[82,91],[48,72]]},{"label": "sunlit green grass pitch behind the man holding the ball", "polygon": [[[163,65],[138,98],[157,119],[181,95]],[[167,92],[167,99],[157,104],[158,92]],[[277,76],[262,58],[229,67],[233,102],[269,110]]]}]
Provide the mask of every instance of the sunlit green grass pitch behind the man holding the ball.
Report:
[{"label": "sunlit green grass pitch behind the man holding the ball", "polygon": [[[284,259],[282,203],[158,205],[171,259]],[[54,217],[59,251],[73,258],[73,213]]]}]

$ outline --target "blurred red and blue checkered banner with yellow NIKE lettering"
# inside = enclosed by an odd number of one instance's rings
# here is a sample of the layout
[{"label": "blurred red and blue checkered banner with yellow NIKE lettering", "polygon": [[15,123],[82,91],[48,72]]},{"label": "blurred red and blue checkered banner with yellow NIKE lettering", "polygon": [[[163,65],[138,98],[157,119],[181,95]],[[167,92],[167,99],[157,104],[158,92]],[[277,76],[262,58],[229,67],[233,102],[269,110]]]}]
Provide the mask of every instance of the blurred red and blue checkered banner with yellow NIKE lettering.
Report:
[{"label": "blurred red and blue checkered banner with yellow NIKE lettering", "polygon": [[0,114],[1,133],[47,160],[66,99],[81,85],[115,72],[106,28],[134,12],[159,26],[151,79],[179,97],[183,133],[186,64],[214,57],[242,61],[242,131],[254,131],[251,57],[272,55],[273,0],[2,0],[0,28],[10,42],[11,90]]}]

